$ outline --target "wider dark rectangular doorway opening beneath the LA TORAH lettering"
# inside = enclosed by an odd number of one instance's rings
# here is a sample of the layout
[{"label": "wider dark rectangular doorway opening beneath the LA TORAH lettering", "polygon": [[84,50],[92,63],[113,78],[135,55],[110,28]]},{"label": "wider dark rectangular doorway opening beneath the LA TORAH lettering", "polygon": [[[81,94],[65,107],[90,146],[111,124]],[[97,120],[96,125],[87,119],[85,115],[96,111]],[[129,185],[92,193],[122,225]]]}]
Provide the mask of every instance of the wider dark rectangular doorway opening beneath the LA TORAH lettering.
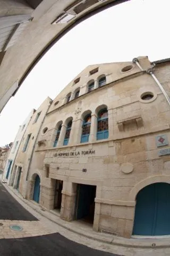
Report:
[{"label": "wider dark rectangular doorway opening beneath the LA TORAH lettering", "polygon": [[96,186],[77,185],[74,219],[94,222]]}]

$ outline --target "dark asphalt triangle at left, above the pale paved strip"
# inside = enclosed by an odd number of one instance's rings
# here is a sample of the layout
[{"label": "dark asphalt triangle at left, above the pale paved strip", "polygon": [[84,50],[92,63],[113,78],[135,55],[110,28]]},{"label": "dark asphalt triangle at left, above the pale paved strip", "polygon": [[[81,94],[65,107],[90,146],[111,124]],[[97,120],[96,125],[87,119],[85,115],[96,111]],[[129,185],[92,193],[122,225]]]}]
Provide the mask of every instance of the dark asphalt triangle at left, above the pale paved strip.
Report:
[{"label": "dark asphalt triangle at left, above the pale paved strip", "polygon": [[[0,183],[0,220],[37,220]],[[1,255],[1,254],[0,254]]]}]

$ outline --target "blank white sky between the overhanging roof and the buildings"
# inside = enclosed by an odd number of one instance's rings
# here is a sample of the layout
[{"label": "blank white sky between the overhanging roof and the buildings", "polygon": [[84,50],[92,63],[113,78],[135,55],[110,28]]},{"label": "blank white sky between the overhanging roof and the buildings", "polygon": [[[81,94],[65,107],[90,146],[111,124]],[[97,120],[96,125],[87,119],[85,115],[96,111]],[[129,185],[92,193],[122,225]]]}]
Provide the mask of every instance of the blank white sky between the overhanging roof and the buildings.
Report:
[{"label": "blank white sky between the overhanging roof and the buildings", "polygon": [[169,0],[131,0],[74,27],[37,63],[0,116],[0,146],[15,139],[31,109],[54,99],[84,68],[97,63],[169,58]]}]

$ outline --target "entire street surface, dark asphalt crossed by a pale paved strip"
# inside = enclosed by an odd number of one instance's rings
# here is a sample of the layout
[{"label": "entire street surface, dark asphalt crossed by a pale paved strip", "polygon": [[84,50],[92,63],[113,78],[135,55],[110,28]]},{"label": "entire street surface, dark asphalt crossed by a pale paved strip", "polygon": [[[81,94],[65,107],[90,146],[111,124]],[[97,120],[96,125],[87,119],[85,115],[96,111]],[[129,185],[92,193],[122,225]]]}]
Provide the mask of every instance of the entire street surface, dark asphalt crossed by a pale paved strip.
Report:
[{"label": "entire street surface, dark asphalt crossed by a pale paved strip", "polygon": [[[118,256],[75,243],[57,230],[51,232],[44,222],[25,210],[0,183],[0,256]],[[20,225],[23,230],[13,231],[10,225]]]}]

